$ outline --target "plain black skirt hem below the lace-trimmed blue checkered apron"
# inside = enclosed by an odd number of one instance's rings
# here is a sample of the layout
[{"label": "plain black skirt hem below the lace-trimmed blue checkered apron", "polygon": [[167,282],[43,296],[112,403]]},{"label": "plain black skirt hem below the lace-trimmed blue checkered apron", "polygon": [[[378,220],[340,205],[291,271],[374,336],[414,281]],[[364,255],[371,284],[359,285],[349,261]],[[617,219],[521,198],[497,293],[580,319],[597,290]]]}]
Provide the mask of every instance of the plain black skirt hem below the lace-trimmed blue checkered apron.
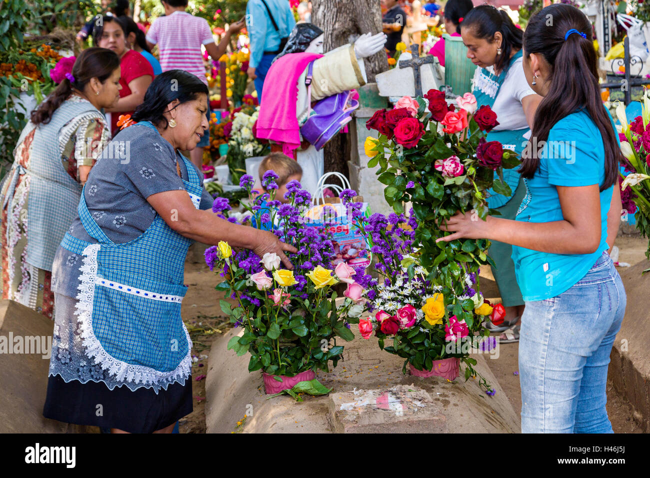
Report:
[{"label": "plain black skirt hem below the lace-trimmed blue checkered apron", "polygon": [[151,433],[192,412],[192,375],[185,384],[171,384],[155,393],[152,388],[110,390],[104,382],[71,380],[59,375],[47,380],[43,416],[64,423],[116,428],[129,433]]}]

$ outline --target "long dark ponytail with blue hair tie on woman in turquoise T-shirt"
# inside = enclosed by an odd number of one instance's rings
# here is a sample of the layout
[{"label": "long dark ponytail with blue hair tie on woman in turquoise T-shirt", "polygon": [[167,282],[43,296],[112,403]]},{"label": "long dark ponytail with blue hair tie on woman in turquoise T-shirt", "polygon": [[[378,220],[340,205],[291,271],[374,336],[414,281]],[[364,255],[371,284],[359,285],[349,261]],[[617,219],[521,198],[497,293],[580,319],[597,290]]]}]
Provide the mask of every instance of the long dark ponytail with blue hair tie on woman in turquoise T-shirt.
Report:
[{"label": "long dark ponytail with blue hair tie on woman in turquoise T-shirt", "polygon": [[[552,25],[547,25],[552,18]],[[584,33],[564,36],[570,29]],[[609,115],[603,107],[598,84],[597,56],[591,39],[591,23],[575,7],[556,3],[542,8],[528,21],[524,35],[524,53],[540,53],[551,65],[549,93],[539,103],[532,127],[532,137],[549,138],[549,131],[559,120],[579,109],[586,109],[601,132],[605,153],[605,178],[600,187],[607,189],[617,181],[621,152]],[[555,66],[561,68],[555,68]],[[519,173],[532,178],[539,166],[536,155],[523,158]]]}]

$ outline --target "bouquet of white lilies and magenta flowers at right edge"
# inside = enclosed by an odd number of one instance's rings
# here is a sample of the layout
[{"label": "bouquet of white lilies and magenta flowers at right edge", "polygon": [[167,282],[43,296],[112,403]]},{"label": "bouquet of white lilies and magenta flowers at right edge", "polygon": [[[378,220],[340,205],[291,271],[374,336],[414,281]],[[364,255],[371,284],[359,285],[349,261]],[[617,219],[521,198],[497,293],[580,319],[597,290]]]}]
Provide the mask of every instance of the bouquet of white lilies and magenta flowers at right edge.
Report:
[{"label": "bouquet of white lilies and magenta flowers at right edge", "polygon": [[[625,158],[623,166],[627,176],[621,174],[621,203],[624,214],[634,214],[636,228],[643,237],[650,237],[650,99],[643,97],[642,114],[632,123],[627,123],[625,105],[619,103],[616,115],[621,124],[619,140],[621,153]],[[650,259],[650,244],[645,251],[645,257]],[[646,269],[643,273],[650,271]]]}]

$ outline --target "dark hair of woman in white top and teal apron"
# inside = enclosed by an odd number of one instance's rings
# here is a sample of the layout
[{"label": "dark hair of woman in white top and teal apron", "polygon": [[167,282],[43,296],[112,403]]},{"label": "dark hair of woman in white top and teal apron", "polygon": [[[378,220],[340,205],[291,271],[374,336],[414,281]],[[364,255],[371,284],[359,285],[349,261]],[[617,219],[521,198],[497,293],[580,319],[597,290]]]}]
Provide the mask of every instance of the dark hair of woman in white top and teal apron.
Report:
[{"label": "dark hair of woman in white top and teal apron", "polygon": [[492,5],[479,5],[469,10],[462,23],[465,31],[471,28],[476,38],[483,38],[488,42],[493,41],[495,33],[501,33],[503,43],[501,54],[494,65],[495,70],[503,70],[508,66],[511,53],[521,49],[523,33],[521,29],[515,27],[504,10],[499,10]]}]

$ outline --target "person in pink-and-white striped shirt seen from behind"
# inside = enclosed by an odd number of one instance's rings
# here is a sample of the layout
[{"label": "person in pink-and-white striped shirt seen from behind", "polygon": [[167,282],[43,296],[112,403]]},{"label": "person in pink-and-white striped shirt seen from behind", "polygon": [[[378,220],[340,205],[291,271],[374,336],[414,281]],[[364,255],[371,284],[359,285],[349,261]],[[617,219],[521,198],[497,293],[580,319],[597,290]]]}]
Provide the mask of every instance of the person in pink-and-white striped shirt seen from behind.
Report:
[{"label": "person in pink-and-white striped shirt seen from behind", "polygon": [[[207,85],[201,45],[213,60],[218,60],[226,53],[231,36],[244,27],[243,19],[233,23],[216,45],[207,20],[185,11],[187,0],[161,0],[161,3],[165,16],[157,18],[149,27],[146,35],[149,48],[158,45],[163,72],[185,70],[198,76]],[[209,119],[209,110],[207,114]],[[199,168],[203,164],[203,148],[209,144],[209,130],[205,130],[201,141],[190,151],[192,163]]]}]

